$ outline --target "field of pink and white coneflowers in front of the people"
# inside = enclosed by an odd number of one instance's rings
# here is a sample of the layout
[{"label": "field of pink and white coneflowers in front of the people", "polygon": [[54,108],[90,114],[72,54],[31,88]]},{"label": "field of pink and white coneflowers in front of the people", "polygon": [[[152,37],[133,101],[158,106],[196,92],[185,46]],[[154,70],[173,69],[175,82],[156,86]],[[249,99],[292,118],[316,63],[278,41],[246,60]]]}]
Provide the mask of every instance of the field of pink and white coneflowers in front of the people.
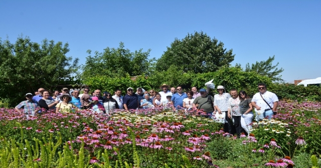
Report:
[{"label": "field of pink and white coneflowers in front of the people", "polygon": [[0,166],[321,165],[317,159],[321,154],[321,104],[281,101],[278,111],[272,120],[253,122],[251,134],[237,138],[194,111],[119,110],[107,116],[83,110],[26,117],[1,108]]}]

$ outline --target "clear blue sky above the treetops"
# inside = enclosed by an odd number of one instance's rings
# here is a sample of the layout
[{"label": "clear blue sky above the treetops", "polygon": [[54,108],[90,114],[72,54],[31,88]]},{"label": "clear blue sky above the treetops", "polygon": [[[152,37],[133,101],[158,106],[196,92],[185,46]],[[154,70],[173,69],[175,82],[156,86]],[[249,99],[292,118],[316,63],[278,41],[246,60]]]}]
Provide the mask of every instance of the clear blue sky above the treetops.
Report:
[{"label": "clear blue sky above the treetops", "polygon": [[102,52],[119,42],[159,58],[175,38],[203,31],[233,49],[232,65],[275,55],[291,83],[321,77],[320,7],[321,1],[0,0],[0,38],[68,42],[67,56],[84,64],[88,49]]}]

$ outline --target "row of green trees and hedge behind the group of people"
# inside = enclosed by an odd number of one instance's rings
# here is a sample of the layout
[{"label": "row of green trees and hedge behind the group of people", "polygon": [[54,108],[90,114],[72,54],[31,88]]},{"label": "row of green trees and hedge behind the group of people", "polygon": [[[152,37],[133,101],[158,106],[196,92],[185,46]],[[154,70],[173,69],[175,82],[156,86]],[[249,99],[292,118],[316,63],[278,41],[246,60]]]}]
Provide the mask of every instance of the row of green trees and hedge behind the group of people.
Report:
[{"label": "row of green trees and hedge behind the group of people", "polygon": [[159,59],[149,58],[150,49],[132,52],[120,42],[118,48],[88,50],[85,65],[79,65],[79,58],[66,56],[68,47],[68,43],[47,39],[41,44],[29,37],[18,37],[15,43],[0,39],[0,101],[13,106],[39,87],[54,90],[74,84],[113,92],[129,86],[155,89],[163,83],[202,88],[214,79],[227,90],[254,93],[260,82],[272,85],[283,81],[283,69],[272,64],[274,56],[247,64],[245,69],[240,64],[232,66],[233,50],[203,32],[176,38]]}]

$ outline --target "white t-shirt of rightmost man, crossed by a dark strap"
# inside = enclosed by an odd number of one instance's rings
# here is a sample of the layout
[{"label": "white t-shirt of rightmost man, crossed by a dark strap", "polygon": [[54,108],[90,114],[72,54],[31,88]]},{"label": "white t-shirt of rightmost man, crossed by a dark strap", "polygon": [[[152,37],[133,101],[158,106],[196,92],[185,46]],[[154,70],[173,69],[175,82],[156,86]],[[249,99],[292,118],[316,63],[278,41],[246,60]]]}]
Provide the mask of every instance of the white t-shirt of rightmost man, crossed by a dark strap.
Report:
[{"label": "white t-shirt of rightmost man, crossed by a dark strap", "polygon": [[[273,108],[273,103],[276,101],[279,101],[275,93],[272,93],[270,91],[266,91],[265,93],[262,94],[262,97],[264,100]],[[265,103],[265,101],[262,99],[260,96],[260,92],[255,93],[255,95],[252,98],[251,102],[255,102],[256,105],[261,107],[261,109],[269,109],[270,107]]]}]

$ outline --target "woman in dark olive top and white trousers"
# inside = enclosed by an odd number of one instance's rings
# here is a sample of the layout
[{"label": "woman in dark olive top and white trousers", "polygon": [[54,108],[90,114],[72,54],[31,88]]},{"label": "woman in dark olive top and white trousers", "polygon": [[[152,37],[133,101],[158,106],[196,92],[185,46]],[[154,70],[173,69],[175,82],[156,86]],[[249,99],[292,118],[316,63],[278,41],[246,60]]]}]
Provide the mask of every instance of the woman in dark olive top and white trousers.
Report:
[{"label": "woman in dark olive top and white trousers", "polygon": [[253,119],[253,107],[251,104],[251,98],[247,95],[244,90],[239,92],[240,99],[240,112],[241,112],[241,126],[246,131],[250,133],[251,123]]}]

